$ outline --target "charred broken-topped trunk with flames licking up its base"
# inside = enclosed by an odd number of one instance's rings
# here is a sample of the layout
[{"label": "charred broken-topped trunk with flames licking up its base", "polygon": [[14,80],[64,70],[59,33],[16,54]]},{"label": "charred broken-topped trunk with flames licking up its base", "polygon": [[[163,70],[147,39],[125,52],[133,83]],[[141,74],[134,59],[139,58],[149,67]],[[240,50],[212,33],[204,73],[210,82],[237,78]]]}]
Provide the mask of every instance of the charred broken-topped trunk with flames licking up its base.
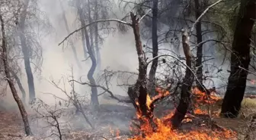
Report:
[{"label": "charred broken-topped trunk with flames licking up its base", "polygon": [[[139,33],[139,18],[136,17],[136,15],[133,14],[133,12],[130,12],[130,19],[132,20],[132,28],[133,28],[133,34],[136,44],[136,51],[138,55],[139,60],[139,76],[136,81],[136,84],[134,86],[134,94],[129,96],[132,98],[136,98],[135,104],[136,104],[136,110],[139,114],[139,120],[141,125],[143,123],[149,123],[149,125],[155,130],[156,126],[153,122],[153,105],[147,104],[147,100],[149,98],[148,92],[147,92],[147,66],[146,63],[146,55],[144,54],[142,50],[142,42],[140,39],[140,33]],[[132,90],[130,89],[130,92]],[[134,104],[134,102],[133,102]]]}]

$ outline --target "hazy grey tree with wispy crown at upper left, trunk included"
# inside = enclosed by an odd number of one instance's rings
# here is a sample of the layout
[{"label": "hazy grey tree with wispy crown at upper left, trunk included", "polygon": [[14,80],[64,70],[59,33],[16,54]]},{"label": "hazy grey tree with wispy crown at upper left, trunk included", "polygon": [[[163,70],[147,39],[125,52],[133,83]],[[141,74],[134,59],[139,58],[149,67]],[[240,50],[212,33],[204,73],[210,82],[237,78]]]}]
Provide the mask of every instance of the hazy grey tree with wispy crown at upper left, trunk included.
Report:
[{"label": "hazy grey tree with wispy crown at upper left, trunk included", "polygon": [[[35,97],[33,72],[39,71],[42,65],[42,49],[38,36],[42,37],[44,33],[50,30],[50,24],[43,12],[38,9],[37,1],[3,1],[3,4],[10,10],[6,12],[4,20],[8,20],[8,36],[12,36],[10,40],[10,67],[13,68],[17,77],[21,76],[21,62],[24,61],[27,73],[27,82],[29,86],[30,98]],[[40,16],[39,16],[40,14]],[[40,30],[37,33],[35,27]],[[41,38],[40,38],[41,39]],[[30,65],[34,65],[34,71]],[[20,85],[18,85],[21,87]]]}]

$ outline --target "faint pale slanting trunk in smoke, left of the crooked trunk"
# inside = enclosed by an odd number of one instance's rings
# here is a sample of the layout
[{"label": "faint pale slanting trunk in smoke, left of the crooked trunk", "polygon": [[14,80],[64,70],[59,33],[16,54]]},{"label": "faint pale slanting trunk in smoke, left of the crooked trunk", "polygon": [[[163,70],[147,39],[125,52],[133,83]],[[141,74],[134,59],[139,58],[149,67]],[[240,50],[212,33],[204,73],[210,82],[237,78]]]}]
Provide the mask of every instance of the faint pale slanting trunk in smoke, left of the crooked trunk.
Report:
[{"label": "faint pale slanting trunk in smoke, left of the crooked trunk", "polygon": [[[59,4],[60,4],[60,7],[62,8],[62,18],[63,18],[65,26],[66,26],[66,31],[67,31],[67,33],[70,33],[70,31],[69,31],[69,24],[68,24],[68,21],[66,20],[66,14],[65,14],[62,2],[59,1]],[[70,40],[69,43],[71,45],[71,48],[72,48],[72,51],[73,51],[73,54],[74,54],[75,62],[77,64],[78,68],[81,69],[82,67],[81,67],[81,64],[80,64],[80,62],[78,60],[78,54],[76,52],[75,45],[72,42],[72,40]]]}]

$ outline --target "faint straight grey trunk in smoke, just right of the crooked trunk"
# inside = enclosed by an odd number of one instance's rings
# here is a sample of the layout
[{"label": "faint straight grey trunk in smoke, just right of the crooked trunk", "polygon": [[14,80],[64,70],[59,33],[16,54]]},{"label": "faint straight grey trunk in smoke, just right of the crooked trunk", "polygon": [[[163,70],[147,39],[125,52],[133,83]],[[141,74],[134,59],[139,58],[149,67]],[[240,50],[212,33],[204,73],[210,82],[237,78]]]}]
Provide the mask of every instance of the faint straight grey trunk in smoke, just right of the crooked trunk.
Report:
[{"label": "faint straight grey trunk in smoke, just right of the crooked trunk", "polygon": [[[94,19],[98,20],[98,0],[95,0],[95,11],[94,11]],[[98,23],[94,25],[94,44],[96,49],[96,58],[97,58],[97,69],[101,70],[101,51],[98,45]]]}]

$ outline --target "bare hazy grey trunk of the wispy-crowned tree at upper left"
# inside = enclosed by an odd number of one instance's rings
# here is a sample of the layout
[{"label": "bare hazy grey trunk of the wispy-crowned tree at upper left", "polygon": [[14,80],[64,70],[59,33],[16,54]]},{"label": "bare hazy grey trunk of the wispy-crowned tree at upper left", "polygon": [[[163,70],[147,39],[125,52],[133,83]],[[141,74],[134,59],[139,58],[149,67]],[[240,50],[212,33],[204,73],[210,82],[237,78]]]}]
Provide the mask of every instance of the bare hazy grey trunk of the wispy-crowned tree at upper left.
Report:
[{"label": "bare hazy grey trunk of the wispy-crowned tree at upper left", "polygon": [[29,102],[31,102],[34,98],[36,98],[36,92],[34,88],[34,76],[30,66],[30,50],[27,46],[26,38],[24,36],[25,30],[25,20],[27,17],[27,6],[29,0],[26,0],[24,3],[24,10],[21,12],[21,21],[19,23],[19,37],[21,39],[21,50],[24,56],[24,66],[27,74],[27,84],[29,90]]}]

